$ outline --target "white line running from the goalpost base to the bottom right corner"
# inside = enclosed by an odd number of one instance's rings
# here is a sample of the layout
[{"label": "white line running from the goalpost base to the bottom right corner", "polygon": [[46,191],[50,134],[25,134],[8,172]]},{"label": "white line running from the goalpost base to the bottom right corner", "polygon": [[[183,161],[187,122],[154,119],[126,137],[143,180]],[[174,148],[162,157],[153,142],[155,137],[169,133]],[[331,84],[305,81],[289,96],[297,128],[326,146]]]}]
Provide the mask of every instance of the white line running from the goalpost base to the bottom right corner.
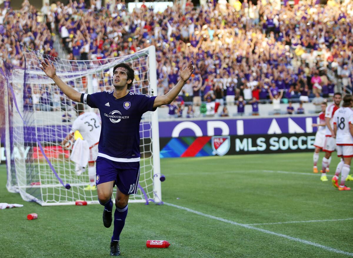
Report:
[{"label": "white line running from the goalpost base to the bottom right corner", "polygon": [[302,244],[316,246],[316,247],[322,248],[322,249],[324,249],[326,251],[330,251],[330,252],[334,252],[334,253],[341,253],[341,254],[345,254],[345,255],[353,257],[353,253],[349,253],[349,252],[346,252],[346,251],[338,250],[338,249],[335,249],[335,248],[332,248],[332,247],[329,247],[329,246],[320,245],[320,244],[317,244],[317,243],[314,243],[314,242],[311,242],[311,241],[307,241],[307,240],[303,240],[303,239],[300,239],[300,238],[294,238],[292,236],[279,234],[279,233],[272,232],[272,231],[269,231],[269,230],[266,230],[266,229],[256,228],[256,227],[253,227],[253,226],[250,226],[250,225],[241,224],[241,223],[234,222],[234,221],[231,221],[231,220],[226,220],[224,218],[215,217],[215,216],[212,216],[212,215],[209,215],[209,214],[205,214],[205,213],[200,212],[200,211],[192,210],[192,209],[189,209],[189,208],[186,208],[186,207],[183,207],[183,206],[179,206],[179,205],[175,205],[175,204],[172,204],[172,203],[164,203],[164,204],[166,204],[168,206],[172,206],[174,208],[178,208],[178,209],[181,209],[181,210],[192,212],[192,213],[195,213],[195,214],[200,215],[200,216],[204,216],[204,217],[207,217],[207,218],[212,218],[213,220],[226,222],[226,223],[229,223],[229,224],[232,224],[232,225],[235,225],[235,226],[244,227],[244,228],[247,228],[247,229],[257,230],[257,231],[260,231],[262,233],[266,233],[266,234],[270,234],[270,235],[280,236],[282,238],[293,240],[295,242],[300,242]]}]

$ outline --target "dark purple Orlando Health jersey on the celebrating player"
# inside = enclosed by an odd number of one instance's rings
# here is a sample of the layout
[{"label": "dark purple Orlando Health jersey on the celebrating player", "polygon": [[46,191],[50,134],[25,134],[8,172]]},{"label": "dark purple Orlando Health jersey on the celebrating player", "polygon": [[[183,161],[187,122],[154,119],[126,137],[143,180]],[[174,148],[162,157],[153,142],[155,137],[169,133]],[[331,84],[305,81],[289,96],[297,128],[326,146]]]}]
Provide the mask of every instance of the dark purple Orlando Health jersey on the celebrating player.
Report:
[{"label": "dark purple Orlando Health jersey on the celebrating player", "polygon": [[143,113],[155,110],[155,98],[132,92],[122,98],[115,98],[113,91],[81,95],[80,102],[98,108],[101,114],[99,157],[120,162],[139,161],[141,117]]}]

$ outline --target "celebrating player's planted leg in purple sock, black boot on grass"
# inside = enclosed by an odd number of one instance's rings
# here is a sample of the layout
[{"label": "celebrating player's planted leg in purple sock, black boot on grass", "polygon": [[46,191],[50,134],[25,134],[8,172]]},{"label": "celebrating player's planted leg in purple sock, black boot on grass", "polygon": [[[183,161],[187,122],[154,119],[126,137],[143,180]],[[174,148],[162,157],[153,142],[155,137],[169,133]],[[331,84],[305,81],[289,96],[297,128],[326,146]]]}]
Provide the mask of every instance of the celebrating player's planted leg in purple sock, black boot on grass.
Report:
[{"label": "celebrating player's planted leg in purple sock, black boot on grass", "polygon": [[120,255],[120,233],[125,225],[125,219],[127,216],[129,195],[120,192],[119,188],[116,189],[115,197],[115,212],[114,212],[114,230],[112,241],[110,241],[110,255]]}]

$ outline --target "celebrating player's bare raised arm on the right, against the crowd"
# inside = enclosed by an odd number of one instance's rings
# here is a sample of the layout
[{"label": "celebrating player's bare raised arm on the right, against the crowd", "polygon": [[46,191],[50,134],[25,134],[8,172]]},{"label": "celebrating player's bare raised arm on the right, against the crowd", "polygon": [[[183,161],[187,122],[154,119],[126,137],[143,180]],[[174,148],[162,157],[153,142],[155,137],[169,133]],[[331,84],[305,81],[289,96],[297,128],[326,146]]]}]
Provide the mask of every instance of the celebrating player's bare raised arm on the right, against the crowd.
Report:
[{"label": "celebrating player's bare raised arm on the right, against the crowd", "polygon": [[190,61],[189,64],[186,66],[186,68],[183,71],[180,71],[180,74],[179,74],[180,80],[177,83],[177,85],[175,85],[173,89],[171,89],[167,94],[162,96],[157,96],[155,98],[153,107],[157,108],[162,105],[167,105],[172,103],[174,98],[178,96],[181,89],[183,89],[183,86],[186,83],[186,81],[189,80],[192,72],[193,72],[193,65],[192,65],[192,62]]}]

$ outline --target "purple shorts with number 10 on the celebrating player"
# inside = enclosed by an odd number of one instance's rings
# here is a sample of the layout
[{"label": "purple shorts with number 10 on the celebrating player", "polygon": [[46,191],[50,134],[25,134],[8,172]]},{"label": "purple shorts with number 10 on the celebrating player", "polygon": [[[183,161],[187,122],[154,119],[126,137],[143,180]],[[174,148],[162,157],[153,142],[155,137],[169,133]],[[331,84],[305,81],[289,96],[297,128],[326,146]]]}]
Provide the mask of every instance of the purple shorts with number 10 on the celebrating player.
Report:
[{"label": "purple shorts with number 10 on the celebrating player", "polygon": [[137,193],[140,162],[116,162],[103,157],[96,161],[96,185],[115,181],[119,191],[129,195]]}]

